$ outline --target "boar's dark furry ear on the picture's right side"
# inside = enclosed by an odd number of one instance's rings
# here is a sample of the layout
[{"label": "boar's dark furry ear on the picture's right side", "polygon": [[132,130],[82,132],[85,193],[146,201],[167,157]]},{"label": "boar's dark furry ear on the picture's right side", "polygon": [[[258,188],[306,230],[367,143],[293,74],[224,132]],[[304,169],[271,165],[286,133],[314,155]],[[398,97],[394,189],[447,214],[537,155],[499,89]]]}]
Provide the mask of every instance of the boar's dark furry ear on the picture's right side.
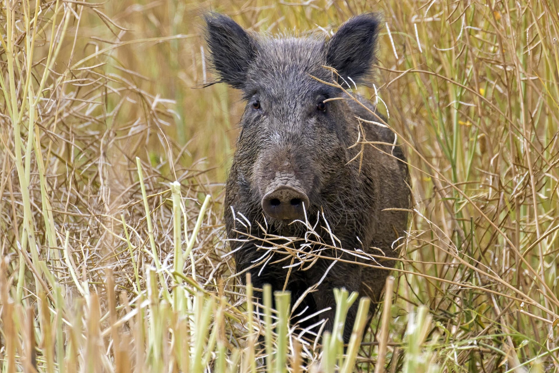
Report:
[{"label": "boar's dark furry ear on the picture's right side", "polygon": [[368,13],[351,18],[326,41],[326,64],[340,77],[363,81],[375,61],[380,16]]}]

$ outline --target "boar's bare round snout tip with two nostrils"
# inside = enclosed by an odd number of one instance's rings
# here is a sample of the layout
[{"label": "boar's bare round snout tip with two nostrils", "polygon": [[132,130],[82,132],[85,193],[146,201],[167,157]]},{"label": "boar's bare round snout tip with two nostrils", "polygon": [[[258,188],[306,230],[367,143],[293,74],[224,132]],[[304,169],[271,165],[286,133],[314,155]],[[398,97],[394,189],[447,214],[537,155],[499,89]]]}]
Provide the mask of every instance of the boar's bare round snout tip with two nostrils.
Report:
[{"label": "boar's bare round snout tip with two nostrils", "polygon": [[269,191],[262,198],[262,209],[271,218],[278,220],[304,219],[303,209],[309,208],[309,197],[298,188],[282,185]]}]

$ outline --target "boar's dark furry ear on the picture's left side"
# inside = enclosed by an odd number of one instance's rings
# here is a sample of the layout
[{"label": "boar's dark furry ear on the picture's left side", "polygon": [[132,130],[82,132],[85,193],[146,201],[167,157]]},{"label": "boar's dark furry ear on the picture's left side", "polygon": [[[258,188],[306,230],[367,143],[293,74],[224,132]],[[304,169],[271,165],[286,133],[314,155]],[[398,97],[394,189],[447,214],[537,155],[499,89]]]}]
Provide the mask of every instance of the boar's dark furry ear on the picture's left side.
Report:
[{"label": "boar's dark furry ear on the picture's left side", "polygon": [[219,74],[220,82],[243,88],[250,63],[256,55],[256,41],[227,16],[206,13],[203,18],[212,67]]}]

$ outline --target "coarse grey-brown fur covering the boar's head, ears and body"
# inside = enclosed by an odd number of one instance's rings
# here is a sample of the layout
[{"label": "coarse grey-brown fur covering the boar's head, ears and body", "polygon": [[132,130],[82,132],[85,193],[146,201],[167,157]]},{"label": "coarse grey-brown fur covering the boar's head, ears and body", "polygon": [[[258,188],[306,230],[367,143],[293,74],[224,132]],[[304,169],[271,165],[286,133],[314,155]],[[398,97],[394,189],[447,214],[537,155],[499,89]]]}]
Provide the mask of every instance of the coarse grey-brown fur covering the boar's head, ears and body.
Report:
[{"label": "coarse grey-brown fur covering the boar's head, ears and body", "polygon": [[[271,284],[273,290],[283,289],[288,278],[286,289],[295,301],[307,287],[317,284],[331,265],[332,259],[319,258],[306,270],[292,268],[288,276],[290,270],[285,266],[290,261],[277,262],[281,258],[273,257],[262,268],[264,263],[258,259],[264,252],[257,247],[262,242],[247,239],[249,234],[256,238],[264,236],[259,225],[267,227],[267,234],[301,238],[305,234],[302,223],[288,224],[264,214],[262,197],[282,183],[297,185],[306,193],[309,220],[319,212],[323,214],[342,248],[396,257],[394,243],[404,236],[408,214],[383,210],[410,206],[404,153],[399,146],[368,144],[362,160],[361,156],[352,160],[362,149],[361,145],[352,147],[359,139],[356,117],[378,119],[358,102],[347,99],[328,101],[326,110],[318,110],[319,103],[326,98],[347,97],[339,88],[313,78],[331,82],[332,73],[322,67],[328,65],[337,69],[340,84],[343,79],[351,85],[352,81],[366,83],[375,60],[378,16],[353,17],[328,40],[318,36],[252,35],[217,13],[207,13],[205,21],[211,63],[220,82],[241,89],[247,101],[225,197],[225,224],[236,270],[249,271],[255,287]],[[359,100],[375,111],[367,100]],[[394,143],[390,129],[361,123],[367,141]],[[241,224],[245,221],[241,214],[252,224]],[[326,240],[330,236],[325,226],[322,220],[316,230]],[[321,255],[350,263],[335,263],[295,314],[305,308],[304,314],[309,315],[330,307],[320,317],[328,319],[326,328],[331,328],[335,287],[369,296],[373,302],[371,315],[375,313],[389,270],[364,266],[362,263],[378,263],[333,248]],[[394,265],[391,260],[378,262],[388,268]],[[345,341],[351,334],[356,311],[356,305],[349,310]]]}]

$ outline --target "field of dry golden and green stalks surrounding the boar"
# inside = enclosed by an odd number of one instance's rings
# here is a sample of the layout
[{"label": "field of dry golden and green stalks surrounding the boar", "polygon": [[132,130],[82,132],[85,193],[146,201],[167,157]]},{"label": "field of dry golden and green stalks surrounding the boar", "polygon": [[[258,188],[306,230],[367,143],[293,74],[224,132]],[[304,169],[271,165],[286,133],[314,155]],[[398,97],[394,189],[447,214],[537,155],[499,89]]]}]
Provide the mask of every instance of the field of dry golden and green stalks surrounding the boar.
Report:
[{"label": "field of dry golden and green stalks surrounding the boar", "polygon": [[[2,372],[263,369],[224,256],[243,103],[203,88],[210,9],[270,34],[383,13],[361,92],[404,144],[414,211],[355,369],[559,371],[557,2],[1,4]],[[320,339],[301,343],[318,370]]]}]

